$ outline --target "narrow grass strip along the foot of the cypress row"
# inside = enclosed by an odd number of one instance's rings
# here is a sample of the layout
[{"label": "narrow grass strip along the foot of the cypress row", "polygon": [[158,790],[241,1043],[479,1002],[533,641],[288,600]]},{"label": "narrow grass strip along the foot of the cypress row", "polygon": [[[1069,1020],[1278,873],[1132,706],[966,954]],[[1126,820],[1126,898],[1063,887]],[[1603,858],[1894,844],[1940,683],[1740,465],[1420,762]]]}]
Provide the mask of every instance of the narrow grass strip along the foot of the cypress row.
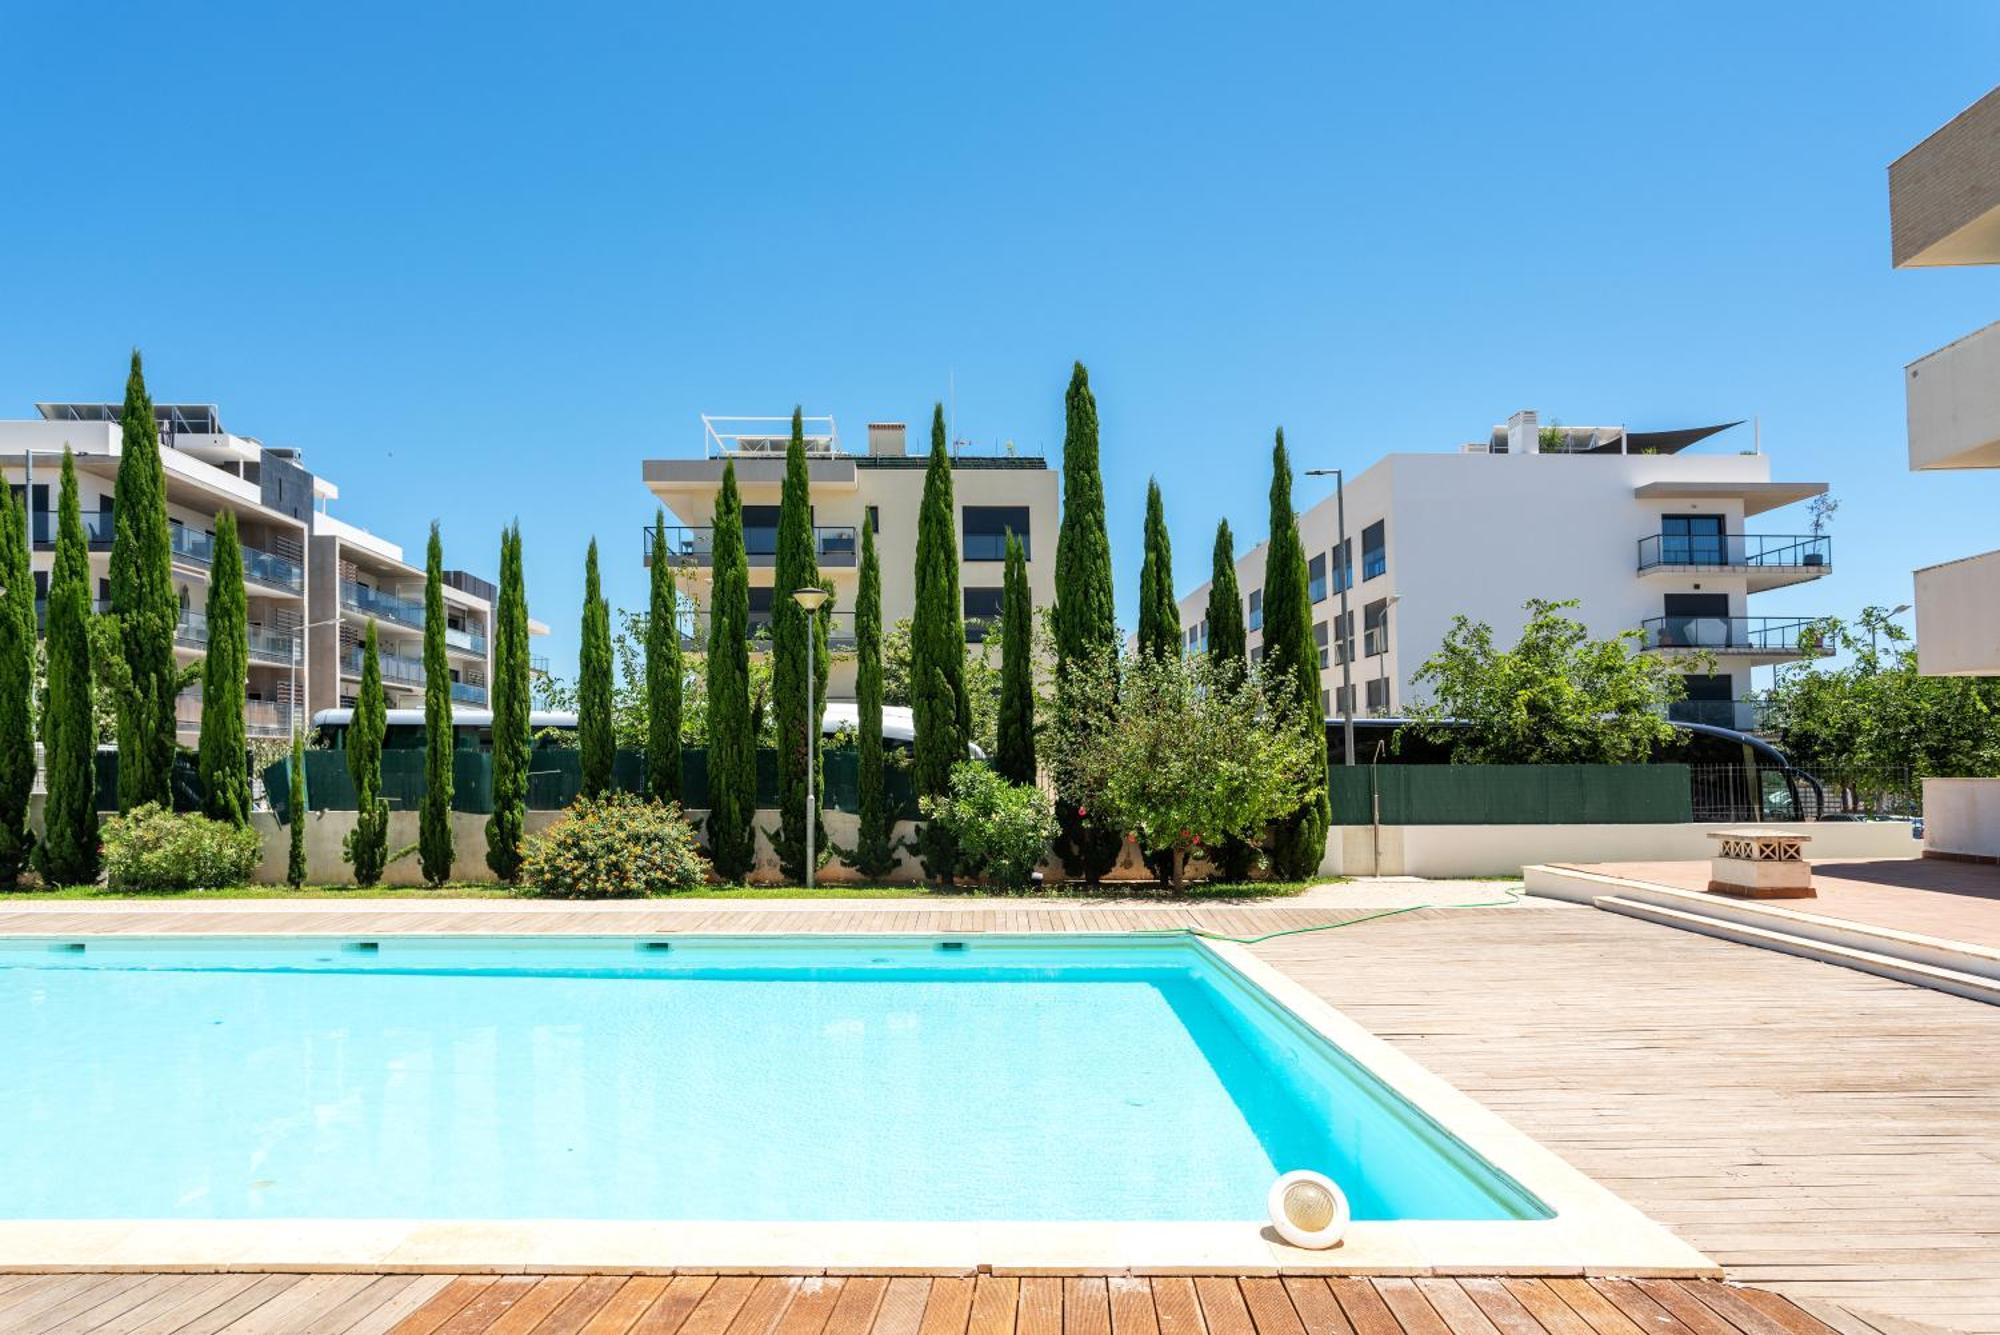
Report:
[{"label": "narrow grass strip along the foot of the cypress row", "polygon": [[[1158,899],[1162,903],[1254,903],[1258,899],[1288,899],[1304,893],[1312,885],[1332,881],[1200,881],[1180,893],[1164,889],[1152,881],[1112,883],[1112,885],[1054,885],[1042,891],[1006,893],[962,885],[934,891],[928,885],[704,885],[682,889],[658,899],[930,899],[934,895],[954,895],[966,899],[994,901],[1104,901],[1104,899]],[[104,885],[64,885],[62,889],[10,889],[0,891],[0,903],[52,903],[62,899],[542,899],[526,889],[504,885],[230,885],[228,889],[106,889]],[[550,903],[590,903],[586,899],[550,899]],[[620,901],[628,903],[628,901]]]}]

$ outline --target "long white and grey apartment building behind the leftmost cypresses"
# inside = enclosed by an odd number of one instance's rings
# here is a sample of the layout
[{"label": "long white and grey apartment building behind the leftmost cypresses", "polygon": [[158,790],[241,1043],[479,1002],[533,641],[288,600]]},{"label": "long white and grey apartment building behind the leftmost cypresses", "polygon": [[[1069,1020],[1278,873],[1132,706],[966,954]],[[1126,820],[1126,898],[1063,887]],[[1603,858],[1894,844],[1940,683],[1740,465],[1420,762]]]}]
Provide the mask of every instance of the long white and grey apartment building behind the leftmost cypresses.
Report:
[{"label": "long white and grey apartment building behind the leftmost cypresses", "polygon": [[[352,703],[368,616],[380,630],[390,707],[418,703],[424,572],[404,562],[396,544],[328,514],[340,490],[308,472],[298,450],[226,430],[214,404],[154,404],[154,414],[182,608],[176,650],[184,662],[208,644],[204,608],[216,516],[236,516],[250,622],[250,735],[284,737],[292,731],[294,709]],[[36,418],[0,422],[0,468],[14,496],[28,502],[38,606],[48,596],[54,566],[64,446],[76,456],[98,604],[108,606],[122,448],[118,418],[120,404],[36,404]],[[452,695],[484,707],[492,588],[464,572],[450,572],[446,586]],[[194,741],[200,717],[196,685],[180,699],[182,741]]]}]

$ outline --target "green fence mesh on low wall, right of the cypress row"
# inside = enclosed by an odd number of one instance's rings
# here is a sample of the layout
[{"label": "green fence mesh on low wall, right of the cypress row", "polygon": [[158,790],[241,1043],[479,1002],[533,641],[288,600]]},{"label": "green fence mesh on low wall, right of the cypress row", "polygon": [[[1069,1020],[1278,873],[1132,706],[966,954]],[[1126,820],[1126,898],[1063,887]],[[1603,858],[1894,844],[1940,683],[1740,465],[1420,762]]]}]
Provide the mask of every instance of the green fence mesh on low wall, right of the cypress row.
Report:
[{"label": "green fence mesh on low wall, right of the cypress row", "polygon": [[1694,819],[1686,765],[1336,765],[1334,823],[1646,825]]}]

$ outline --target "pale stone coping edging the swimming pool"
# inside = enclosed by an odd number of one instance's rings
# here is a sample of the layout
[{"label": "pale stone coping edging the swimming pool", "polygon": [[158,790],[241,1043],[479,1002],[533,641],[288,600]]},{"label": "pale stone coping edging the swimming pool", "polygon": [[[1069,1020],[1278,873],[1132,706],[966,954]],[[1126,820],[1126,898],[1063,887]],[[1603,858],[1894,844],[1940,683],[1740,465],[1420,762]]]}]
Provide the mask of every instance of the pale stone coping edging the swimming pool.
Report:
[{"label": "pale stone coping edging the swimming pool", "polygon": [[[16,933],[12,939],[38,933]],[[50,939],[78,933],[50,933]],[[266,933],[200,933],[254,937]],[[334,933],[282,933],[312,937]],[[352,937],[352,931],[338,933]],[[376,935],[406,935],[382,931]],[[436,933],[408,933],[436,937]],[[532,935],[532,933],[468,933]],[[648,933],[604,933],[606,939]],[[674,933],[734,937],[728,931]],[[800,933],[838,939],[860,933]],[[880,941],[884,933],[866,933]],[[888,933],[918,939],[962,933]],[[986,939],[1012,933],[980,933]],[[1136,933],[1060,933],[1128,939]],[[1158,933],[1148,933],[1158,935]],[[568,941],[588,937],[566,937]],[[1032,937],[1050,943],[1050,935]],[[1192,937],[1550,1219],[1362,1221],[1330,1251],[1266,1221],[0,1219],[0,1271],[824,1273],[824,1275],[1638,1275],[1720,1277],[1692,1245],[1232,941]]]}]

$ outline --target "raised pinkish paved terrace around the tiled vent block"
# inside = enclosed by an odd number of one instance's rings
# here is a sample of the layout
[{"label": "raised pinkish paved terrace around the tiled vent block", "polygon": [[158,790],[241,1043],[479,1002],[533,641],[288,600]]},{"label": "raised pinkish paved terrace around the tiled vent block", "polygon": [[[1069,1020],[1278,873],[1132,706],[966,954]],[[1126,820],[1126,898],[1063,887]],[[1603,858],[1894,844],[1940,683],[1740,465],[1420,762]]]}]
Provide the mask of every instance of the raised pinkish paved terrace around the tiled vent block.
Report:
[{"label": "raised pinkish paved terrace around the tiled vent block", "polygon": [[[1810,845],[1808,845],[1810,851]],[[1674,889],[1708,889],[1706,861],[1564,863]],[[1814,861],[1814,899],[1776,899],[1784,909],[1868,927],[1914,931],[2000,949],[2000,867],[1940,857]]]}]

